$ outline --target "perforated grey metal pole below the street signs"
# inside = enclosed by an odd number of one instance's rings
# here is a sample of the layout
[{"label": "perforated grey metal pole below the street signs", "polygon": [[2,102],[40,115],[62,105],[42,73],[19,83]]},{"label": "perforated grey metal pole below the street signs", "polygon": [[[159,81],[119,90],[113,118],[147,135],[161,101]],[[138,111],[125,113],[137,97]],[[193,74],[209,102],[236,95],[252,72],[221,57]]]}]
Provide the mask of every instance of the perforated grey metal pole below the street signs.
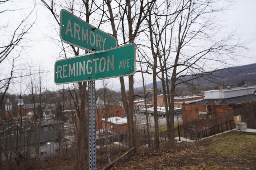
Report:
[{"label": "perforated grey metal pole below the street signs", "polygon": [[89,91],[89,170],[96,170],[95,81],[88,82]]}]

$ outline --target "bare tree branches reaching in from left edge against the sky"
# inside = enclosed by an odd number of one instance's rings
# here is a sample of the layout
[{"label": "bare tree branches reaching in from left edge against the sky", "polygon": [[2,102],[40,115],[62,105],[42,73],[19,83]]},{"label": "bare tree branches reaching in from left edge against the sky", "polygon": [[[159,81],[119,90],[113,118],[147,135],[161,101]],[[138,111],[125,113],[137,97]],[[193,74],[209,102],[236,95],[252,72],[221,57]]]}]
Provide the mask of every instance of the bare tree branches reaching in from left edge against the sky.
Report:
[{"label": "bare tree branches reaching in from left edge against the sky", "polygon": [[[0,5],[6,2],[7,1],[0,2]],[[0,14],[3,16],[5,12],[16,10],[20,9],[6,9],[0,11]],[[33,13],[33,11],[34,9],[14,29],[11,27],[11,25],[3,25],[0,27],[0,36],[2,37],[2,40],[0,41],[0,66],[3,73],[0,78],[0,106],[3,103],[5,94],[10,87],[11,80],[21,77],[20,75],[17,75],[18,71],[21,69],[18,68],[15,61],[18,60],[26,48],[28,41],[26,40],[26,35],[29,33],[29,30],[35,23],[35,21],[32,23],[29,22],[30,15]],[[9,68],[11,68],[11,70],[5,74],[4,69],[6,69],[6,65],[10,66]]]}]

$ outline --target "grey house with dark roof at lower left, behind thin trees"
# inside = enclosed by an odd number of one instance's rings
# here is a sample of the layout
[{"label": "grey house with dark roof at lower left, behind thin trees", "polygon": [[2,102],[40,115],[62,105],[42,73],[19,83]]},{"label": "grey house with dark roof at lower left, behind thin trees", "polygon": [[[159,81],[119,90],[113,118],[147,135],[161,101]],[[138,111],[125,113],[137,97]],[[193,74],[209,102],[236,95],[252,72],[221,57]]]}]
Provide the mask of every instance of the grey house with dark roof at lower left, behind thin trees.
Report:
[{"label": "grey house with dark roof at lower left, behind thin trees", "polygon": [[[17,125],[20,126],[18,134],[16,133],[17,126],[11,125],[4,130],[8,133],[0,136],[0,145],[3,148],[0,152],[2,161],[6,159],[14,160],[17,152],[26,156],[26,158],[45,158],[59,152],[58,140],[63,138],[63,121],[42,121],[38,131],[31,122],[22,122],[22,124],[18,122]],[[37,122],[37,125],[39,125],[39,122]],[[36,155],[38,145],[39,155]]]}]

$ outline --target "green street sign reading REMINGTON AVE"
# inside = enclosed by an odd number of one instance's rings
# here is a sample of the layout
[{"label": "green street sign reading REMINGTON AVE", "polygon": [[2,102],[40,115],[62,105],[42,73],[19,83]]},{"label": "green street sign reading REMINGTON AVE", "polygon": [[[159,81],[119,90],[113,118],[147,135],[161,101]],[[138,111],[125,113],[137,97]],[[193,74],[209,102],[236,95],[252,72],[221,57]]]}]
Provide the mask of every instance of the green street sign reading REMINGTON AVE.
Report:
[{"label": "green street sign reading REMINGTON AVE", "polygon": [[135,44],[57,60],[55,84],[86,82],[133,75],[136,72]]}]

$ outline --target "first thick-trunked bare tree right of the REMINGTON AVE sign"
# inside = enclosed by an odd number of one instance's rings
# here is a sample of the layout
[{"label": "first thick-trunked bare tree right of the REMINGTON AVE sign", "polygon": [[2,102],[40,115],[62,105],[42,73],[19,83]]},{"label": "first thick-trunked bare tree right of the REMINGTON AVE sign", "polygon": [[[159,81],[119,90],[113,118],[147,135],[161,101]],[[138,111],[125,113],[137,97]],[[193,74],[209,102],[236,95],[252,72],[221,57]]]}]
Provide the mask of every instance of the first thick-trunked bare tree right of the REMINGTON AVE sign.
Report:
[{"label": "first thick-trunked bare tree right of the REMINGTON AVE sign", "polygon": [[[147,24],[149,25],[149,40],[150,40],[150,48],[153,56],[153,64],[151,67],[153,69],[153,88],[154,88],[154,120],[155,120],[155,135],[154,135],[154,147],[155,149],[159,149],[159,128],[158,128],[158,111],[157,111],[157,69],[158,62],[157,58],[159,57],[161,51],[161,39],[163,36],[166,36],[166,30],[169,25],[173,23],[172,16],[176,13],[170,13],[170,3],[168,1],[164,1],[163,3],[155,3],[152,11],[149,12],[147,19]],[[152,13],[151,13],[152,12]],[[162,23],[161,23],[162,22]],[[148,63],[151,63],[148,59]],[[161,63],[161,62],[160,62]],[[163,81],[162,81],[163,83]],[[163,92],[165,93],[165,88],[163,88]],[[166,99],[166,96],[165,96]],[[165,100],[166,101],[166,100]],[[165,105],[166,111],[168,111],[167,105]],[[168,114],[166,117],[168,118]],[[167,120],[167,126],[169,126],[169,121]]]}]

